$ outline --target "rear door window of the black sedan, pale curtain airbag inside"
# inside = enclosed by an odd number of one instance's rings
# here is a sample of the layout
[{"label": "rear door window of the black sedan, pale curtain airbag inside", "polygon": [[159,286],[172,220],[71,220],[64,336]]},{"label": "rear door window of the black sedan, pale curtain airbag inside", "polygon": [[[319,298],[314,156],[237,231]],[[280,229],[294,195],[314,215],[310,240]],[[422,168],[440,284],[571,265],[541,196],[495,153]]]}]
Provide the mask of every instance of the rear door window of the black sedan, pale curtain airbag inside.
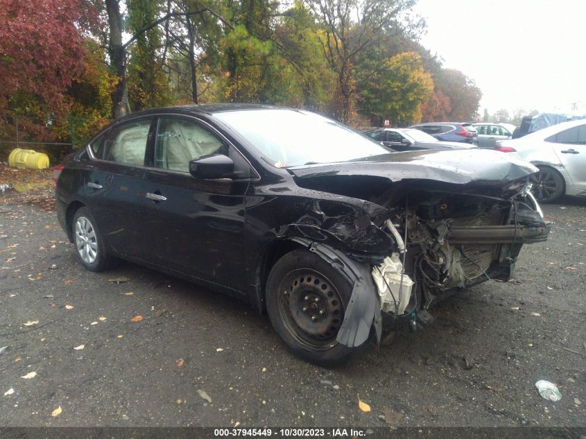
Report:
[{"label": "rear door window of the black sedan, pale curtain airbag inside", "polygon": [[107,133],[96,157],[110,162],[144,166],[150,118],[124,123]]}]

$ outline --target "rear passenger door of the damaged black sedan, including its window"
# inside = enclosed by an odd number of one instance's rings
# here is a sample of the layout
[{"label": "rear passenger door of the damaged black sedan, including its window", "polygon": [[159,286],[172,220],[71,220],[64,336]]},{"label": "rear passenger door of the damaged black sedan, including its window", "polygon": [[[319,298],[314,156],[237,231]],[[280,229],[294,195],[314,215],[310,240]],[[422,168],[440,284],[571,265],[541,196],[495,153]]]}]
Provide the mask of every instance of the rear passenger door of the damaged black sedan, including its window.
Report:
[{"label": "rear passenger door of the damaged black sedan, including its window", "polygon": [[148,230],[144,216],[145,157],[153,135],[152,117],[132,119],[110,128],[91,146],[85,194],[98,230],[125,255],[144,257]]}]

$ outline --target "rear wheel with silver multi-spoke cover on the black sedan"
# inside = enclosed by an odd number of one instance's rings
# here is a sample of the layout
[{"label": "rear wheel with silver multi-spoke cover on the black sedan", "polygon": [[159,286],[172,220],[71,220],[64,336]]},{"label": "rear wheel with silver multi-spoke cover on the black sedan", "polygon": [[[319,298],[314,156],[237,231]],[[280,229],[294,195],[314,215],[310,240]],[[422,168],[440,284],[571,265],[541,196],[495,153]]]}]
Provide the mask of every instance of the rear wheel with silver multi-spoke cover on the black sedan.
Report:
[{"label": "rear wheel with silver multi-spoke cover on the black sedan", "polygon": [[87,207],[80,207],[71,222],[76,255],[89,271],[102,271],[114,265],[115,259],[107,254],[96,220]]}]

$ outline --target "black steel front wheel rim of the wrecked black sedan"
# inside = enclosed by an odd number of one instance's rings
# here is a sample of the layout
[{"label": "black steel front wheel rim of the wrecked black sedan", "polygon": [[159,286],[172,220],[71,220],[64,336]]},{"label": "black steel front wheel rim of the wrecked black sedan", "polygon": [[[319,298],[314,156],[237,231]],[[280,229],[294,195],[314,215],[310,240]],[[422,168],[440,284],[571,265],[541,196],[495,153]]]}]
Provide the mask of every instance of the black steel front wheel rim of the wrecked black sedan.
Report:
[{"label": "black steel front wheel rim of the wrecked black sedan", "polygon": [[311,268],[291,271],[279,285],[279,315],[289,334],[307,349],[331,349],[344,320],[336,286]]}]

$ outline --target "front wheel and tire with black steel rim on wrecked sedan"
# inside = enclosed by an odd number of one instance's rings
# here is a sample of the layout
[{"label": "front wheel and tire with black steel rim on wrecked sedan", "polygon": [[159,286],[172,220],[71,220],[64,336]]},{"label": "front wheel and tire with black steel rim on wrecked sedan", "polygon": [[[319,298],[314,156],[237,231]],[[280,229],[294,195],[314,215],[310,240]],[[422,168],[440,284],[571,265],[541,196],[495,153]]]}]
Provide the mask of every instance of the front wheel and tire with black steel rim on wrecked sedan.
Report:
[{"label": "front wheel and tire with black steel rim on wrecked sedan", "polygon": [[[336,341],[352,284],[308,250],[293,250],[273,266],[266,282],[270,322],[287,347],[316,365],[332,367],[361,352]],[[321,312],[320,312],[321,311]]]}]

